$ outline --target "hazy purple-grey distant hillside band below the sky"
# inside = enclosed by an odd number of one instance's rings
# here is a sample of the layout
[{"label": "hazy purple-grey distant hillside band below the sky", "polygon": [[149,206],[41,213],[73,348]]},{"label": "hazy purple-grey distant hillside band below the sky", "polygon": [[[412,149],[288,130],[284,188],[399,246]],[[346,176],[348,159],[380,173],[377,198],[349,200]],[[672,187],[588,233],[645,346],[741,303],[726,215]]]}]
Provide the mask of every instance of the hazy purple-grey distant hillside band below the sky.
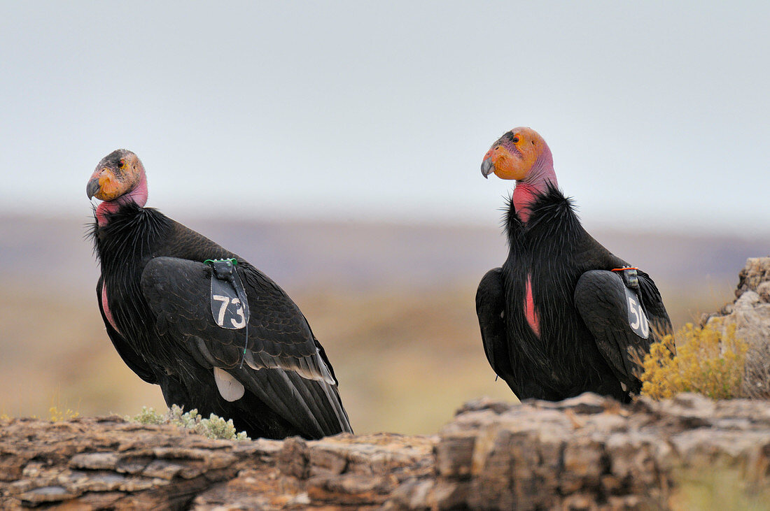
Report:
[{"label": "hazy purple-grey distant hillside band below the sky", "polygon": [[[182,219],[180,219],[182,220]],[[42,279],[91,291],[98,268],[82,218],[0,218],[0,277]],[[431,287],[478,280],[506,255],[497,227],[186,219],[188,227],[251,261],[284,287]],[[747,257],[770,254],[770,238],[689,237],[595,231],[609,250],[663,287],[734,285]],[[12,261],[13,264],[9,264]]]}]

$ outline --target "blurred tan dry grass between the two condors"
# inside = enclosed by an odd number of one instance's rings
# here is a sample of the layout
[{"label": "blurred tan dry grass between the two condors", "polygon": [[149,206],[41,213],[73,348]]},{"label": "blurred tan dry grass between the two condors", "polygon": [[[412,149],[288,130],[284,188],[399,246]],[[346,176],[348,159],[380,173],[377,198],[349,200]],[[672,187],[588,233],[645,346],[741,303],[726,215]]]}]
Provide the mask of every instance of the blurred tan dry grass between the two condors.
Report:
[{"label": "blurred tan dry grass between the two condors", "polygon": [[296,297],[357,433],[435,433],[467,400],[515,401],[484,357],[475,284]]}]

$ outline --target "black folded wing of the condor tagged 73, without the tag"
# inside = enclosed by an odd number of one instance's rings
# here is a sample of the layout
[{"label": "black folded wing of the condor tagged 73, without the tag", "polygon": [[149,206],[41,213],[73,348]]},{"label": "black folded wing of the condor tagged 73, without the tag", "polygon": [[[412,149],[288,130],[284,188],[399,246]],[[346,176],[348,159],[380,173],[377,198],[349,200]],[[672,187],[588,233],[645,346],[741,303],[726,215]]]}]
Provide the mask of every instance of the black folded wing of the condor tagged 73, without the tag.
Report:
[{"label": "black folded wing of the condor tagged 73, without the tag", "polygon": [[249,299],[247,343],[245,330],[226,330],[214,322],[212,270],[176,257],[156,257],[142,273],[142,293],[159,330],[178,337],[180,347],[204,367],[227,370],[303,434],[351,431],[328,361],[299,308],[256,268],[239,262],[237,270]]}]

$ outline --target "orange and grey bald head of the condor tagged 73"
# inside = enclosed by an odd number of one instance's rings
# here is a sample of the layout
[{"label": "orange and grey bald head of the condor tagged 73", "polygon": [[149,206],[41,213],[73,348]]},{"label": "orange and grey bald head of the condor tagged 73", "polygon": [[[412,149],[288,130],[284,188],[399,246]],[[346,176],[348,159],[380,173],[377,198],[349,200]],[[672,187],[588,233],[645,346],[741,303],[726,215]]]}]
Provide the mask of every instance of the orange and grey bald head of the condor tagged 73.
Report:
[{"label": "orange and grey bald head of the condor tagged 73", "polygon": [[144,166],[139,157],[126,149],[118,149],[99,161],[85,191],[89,199],[96,197],[100,201],[114,201],[133,191],[144,177]]}]

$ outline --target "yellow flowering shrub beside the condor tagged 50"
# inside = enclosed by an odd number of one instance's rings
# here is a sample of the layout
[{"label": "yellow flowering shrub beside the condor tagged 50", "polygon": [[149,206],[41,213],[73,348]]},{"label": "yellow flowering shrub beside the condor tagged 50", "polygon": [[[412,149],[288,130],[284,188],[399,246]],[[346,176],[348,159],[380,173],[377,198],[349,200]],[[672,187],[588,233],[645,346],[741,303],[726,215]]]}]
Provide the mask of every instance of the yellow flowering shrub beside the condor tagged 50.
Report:
[{"label": "yellow flowering shrub beside the condor tagged 50", "polygon": [[713,327],[688,323],[652,344],[642,362],[641,393],[655,400],[680,392],[711,399],[742,397],[746,350],[748,344],[735,337],[735,325],[722,335]]}]

